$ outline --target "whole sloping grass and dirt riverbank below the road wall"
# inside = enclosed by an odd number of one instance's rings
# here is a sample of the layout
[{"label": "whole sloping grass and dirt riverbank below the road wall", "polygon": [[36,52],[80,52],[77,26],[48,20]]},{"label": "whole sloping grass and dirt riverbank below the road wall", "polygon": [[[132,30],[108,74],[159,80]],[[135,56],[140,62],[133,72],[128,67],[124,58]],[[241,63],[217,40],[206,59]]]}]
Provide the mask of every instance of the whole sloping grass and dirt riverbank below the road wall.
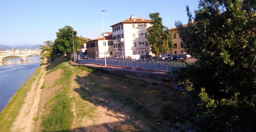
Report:
[{"label": "whole sloping grass and dirt riverbank below the road wall", "polygon": [[174,131],[184,99],[181,91],[160,84],[72,66],[56,57],[38,67],[11,98],[0,115],[0,131]]}]

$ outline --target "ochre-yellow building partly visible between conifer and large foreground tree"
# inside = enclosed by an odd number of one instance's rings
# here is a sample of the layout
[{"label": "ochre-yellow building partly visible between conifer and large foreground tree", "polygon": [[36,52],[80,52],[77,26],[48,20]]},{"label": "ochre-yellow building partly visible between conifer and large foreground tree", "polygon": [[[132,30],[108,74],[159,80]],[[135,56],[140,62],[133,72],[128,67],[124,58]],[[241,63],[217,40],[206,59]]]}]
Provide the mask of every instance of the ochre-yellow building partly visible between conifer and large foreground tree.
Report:
[{"label": "ochre-yellow building partly visible between conifer and large foreground tree", "polygon": [[[187,24],[184,24],[183,26],[187,26]],[[176,48],[171,49],[170,53],[171,54],[176,54],[179,55],[181,53],[186,53],[186,51],[184,51],[183,46],[181,45],[181,38],[180,35],[177,33],[178,28],[171,28],[169,29],[169,31],[171,32],[173,38],[172,38],[172,42],[173,45]]]}]

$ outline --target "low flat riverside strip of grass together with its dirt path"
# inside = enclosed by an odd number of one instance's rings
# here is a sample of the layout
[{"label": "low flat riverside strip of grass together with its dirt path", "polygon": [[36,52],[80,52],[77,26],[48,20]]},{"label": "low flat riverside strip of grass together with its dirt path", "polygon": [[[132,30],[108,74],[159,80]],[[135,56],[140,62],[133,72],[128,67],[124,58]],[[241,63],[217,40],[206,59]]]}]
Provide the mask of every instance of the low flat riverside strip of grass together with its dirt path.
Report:
[{"label": "low flat riverside strip of grass together with its dirt path", "polygon": [[[36,102],[38,102],[37,98],[38,96],[40,97],[38,87],[40,87],[39,82],[43,78],[44,70],[44,66],[37,67],[33,75],[11,97],[10,101],[0,114],[0,131],[11,131],[12,125],[17,121],[17,117],[21,114],[26,113],[29,118],[33,116],[33,112],[37,106]],[[20,118],[28,119],[24,116]],[[25,122],[27,122],[27,120],[25,120]],[[19,126],[19,124],[17,124],[17,126]],[[29,127],[29,125],[26,125],[26,127]]]}]

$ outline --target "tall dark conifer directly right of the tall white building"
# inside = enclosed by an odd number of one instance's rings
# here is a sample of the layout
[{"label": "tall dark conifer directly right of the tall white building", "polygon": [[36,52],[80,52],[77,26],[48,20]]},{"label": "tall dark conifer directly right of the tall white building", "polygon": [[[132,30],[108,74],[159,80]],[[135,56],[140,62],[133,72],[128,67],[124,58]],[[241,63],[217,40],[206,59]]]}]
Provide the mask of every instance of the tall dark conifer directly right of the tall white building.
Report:
[{"label": "tall dark conifer directly right of the tall white building", "polygon": [[[158,55],[158,53],[166,53],[173,47],[172,38],[167,27],[162,25],[162,18],[159,17],[159,13],[149,14],[151,18],[152,26],[147,28],[147,40],[149,42],[151,51]],[[167,45],[168,38],[168,45]]]}]

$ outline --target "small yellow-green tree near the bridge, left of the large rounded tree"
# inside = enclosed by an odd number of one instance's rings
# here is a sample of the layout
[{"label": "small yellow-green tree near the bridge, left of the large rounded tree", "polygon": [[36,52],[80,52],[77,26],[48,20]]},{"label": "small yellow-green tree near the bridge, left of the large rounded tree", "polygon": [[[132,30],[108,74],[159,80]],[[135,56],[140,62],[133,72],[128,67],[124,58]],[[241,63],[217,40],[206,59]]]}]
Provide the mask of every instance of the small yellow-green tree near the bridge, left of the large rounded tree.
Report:
[{"label": "small yellow-green tree near the bridge, left of the large rounded tree", "polygon": [[41,46],[40,49],[42,50],[40,51],[40,54],[50,59],[53,54],[53,42],[52,40],[48,40],[48,41],[45,41],[44,43],[45,45],[40,45]]}]

